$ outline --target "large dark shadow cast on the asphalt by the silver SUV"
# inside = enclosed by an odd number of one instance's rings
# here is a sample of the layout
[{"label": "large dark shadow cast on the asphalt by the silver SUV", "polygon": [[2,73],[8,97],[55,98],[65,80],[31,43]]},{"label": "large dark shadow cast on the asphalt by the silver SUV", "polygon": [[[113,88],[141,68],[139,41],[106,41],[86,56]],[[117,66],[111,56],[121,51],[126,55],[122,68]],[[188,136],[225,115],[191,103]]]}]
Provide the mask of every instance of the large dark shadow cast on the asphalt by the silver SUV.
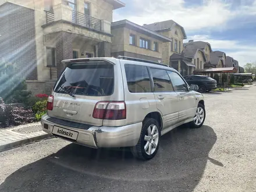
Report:
[{"label": "large dark shadow cast on the asphalt by the silver SUV", "polygon": [[158,154],[150,161],[133,158],[127,148],[69,144],[16,170],[0,191],[193,191],[208,160],[223,166],[209,157],[216,138],[209,126],[178,127],[161,137]]}]

